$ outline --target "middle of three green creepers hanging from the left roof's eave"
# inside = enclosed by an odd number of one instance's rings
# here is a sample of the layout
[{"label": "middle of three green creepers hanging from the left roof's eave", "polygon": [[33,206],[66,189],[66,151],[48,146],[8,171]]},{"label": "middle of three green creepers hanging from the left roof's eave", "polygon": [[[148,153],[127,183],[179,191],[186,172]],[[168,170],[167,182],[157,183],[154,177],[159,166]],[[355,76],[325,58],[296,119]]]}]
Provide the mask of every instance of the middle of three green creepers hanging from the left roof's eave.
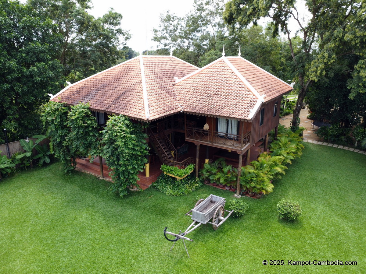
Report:
[{"label": "middle of three green creepers hanging from the left roof's eave", "polygon": [[72,144],[70,153],[74,156],[99,155],[102,136],[89,104],[80,103],[72,106],[67,118],[67,125],[70,128],[68,143]]}]

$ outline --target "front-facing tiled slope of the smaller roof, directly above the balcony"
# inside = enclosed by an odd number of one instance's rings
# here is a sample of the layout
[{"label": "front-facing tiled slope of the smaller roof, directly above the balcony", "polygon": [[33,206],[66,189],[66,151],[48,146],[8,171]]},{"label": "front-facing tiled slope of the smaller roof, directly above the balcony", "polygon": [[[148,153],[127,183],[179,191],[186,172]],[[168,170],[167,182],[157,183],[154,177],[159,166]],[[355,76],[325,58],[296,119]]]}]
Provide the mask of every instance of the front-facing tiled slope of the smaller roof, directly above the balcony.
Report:
[{"label": "front-facing tiled slope of the smaller roof, directly above the balcony", "polygon": [[175,84],[183,110],[215,116],[249,119],[258,98],[223,58]]}]

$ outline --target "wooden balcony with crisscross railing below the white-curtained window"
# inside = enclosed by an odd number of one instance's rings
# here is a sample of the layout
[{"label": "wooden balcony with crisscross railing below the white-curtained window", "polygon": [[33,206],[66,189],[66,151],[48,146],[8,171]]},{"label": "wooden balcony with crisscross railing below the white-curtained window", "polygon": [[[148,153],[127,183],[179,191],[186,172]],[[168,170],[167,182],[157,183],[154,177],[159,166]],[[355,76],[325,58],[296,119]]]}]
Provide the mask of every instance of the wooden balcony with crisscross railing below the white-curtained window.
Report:
[{"label": "wooden balcony with crisscross railing below the white-curtained window", "polygon": [[243,136],[240,136],[187,126],[186,140],[239,152],[250,146],[250,132],[246,132]]}]

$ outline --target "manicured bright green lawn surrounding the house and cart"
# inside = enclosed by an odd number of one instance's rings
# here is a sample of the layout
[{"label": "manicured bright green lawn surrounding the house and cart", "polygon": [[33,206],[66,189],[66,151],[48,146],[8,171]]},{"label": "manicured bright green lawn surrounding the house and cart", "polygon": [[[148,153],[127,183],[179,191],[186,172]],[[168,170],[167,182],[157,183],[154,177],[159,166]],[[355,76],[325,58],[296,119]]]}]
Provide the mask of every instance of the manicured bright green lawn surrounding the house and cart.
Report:
[{"label": "manicured bright green lawn surrounding the house and cart", "polygon": [[[366,156],[305,144],[275,190],[217,231],[201,225],[186,245],[163,236],[185,230],[196,197],[150,188],[119,198],[108,183],[60,164],[0,181],[0,273],[366,273]],[[276,205],[296,199],[300,221],[279,221]],[[283,266],[262,265],[284,260]],[[288,260],[357,261],[357,266],[289,266]]]}]

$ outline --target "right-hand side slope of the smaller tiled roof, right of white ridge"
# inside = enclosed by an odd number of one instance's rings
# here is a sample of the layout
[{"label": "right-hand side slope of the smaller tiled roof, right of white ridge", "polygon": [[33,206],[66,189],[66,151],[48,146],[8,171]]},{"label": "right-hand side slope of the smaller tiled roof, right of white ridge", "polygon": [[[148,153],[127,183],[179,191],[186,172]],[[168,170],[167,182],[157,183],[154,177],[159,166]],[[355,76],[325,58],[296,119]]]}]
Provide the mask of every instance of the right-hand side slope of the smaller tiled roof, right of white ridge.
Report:
[{"label": "right-hand side slope of the smaller tiled roof, right of white ridge", "polygon": [[265,102],[292,90],[289,84],[242,57],[227,59],[260,95],[265,95]]}]

